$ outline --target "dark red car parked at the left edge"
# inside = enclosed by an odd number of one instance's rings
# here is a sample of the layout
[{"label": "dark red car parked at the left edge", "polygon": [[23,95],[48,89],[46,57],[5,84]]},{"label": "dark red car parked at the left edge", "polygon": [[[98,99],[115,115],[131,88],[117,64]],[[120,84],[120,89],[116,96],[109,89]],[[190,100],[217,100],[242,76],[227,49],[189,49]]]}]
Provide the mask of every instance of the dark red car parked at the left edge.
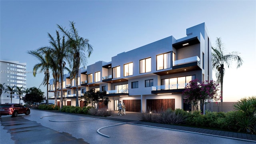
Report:
[{"label": "dark red car parked at the left edge", "polygon": [[18,114],[30,114],[30,109],[21,104],[0,104],[0,116],[12,115],[12,117],[18,116]]}]

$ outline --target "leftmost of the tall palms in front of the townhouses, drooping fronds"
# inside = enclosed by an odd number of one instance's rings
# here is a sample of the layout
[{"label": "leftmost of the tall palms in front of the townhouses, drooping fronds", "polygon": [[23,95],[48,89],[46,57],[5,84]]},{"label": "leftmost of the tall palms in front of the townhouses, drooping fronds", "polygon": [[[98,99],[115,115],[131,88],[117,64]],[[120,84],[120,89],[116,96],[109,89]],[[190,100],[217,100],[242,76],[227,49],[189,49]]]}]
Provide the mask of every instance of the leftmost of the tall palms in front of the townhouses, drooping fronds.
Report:
[{"label": "leftmost of the tall palms in front of the townhouses, drooping fronds", "polygon": [[36,76],[38,70],[40,70],[41,72],[44,72],[44,80],[43,80],[42,84],[44,86],[47,86],[46,104],[48,104],[48,97],[49,97],[48,84],[49,84],[49,79],[50,79],[49,69],[50,69],[51,64],[47,60],[46,52],[44,50],[41,50],[41,51],[40,50],[30,50],[30,51],[28,51],[28,54],[31,54],[32,56],[36,57],[39,60],[39,63],[35,64],[34,68],[33,68],[34,77]]}]

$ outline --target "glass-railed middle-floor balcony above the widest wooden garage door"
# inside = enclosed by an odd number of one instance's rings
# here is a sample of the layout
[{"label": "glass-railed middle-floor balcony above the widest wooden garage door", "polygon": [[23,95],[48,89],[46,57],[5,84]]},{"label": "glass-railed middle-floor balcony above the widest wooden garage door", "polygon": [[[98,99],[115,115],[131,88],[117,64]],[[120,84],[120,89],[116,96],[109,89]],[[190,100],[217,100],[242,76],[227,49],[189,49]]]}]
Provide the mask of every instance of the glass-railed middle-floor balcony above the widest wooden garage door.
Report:
[{"label": "glass-railed middle-floor balcony above the widest wooden garage door", "polygon": [[152,86],[151,94],[180,94],[185,89],[187,83]]}]

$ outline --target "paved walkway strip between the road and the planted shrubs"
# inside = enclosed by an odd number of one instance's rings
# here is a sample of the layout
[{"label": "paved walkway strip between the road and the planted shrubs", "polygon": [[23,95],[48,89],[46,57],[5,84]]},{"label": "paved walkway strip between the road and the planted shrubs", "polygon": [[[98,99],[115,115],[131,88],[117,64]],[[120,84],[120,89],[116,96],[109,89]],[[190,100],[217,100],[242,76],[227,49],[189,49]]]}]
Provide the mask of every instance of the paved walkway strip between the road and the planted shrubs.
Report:
[{"label": "paved walkway strip between the road and the planted shrubs", "polygon": [[[55,112],[59,112],[59,111],[55,111]],[[60,112],[60,113],[63,113],[63,112]],[[71,113],[68,113],[68,114],[71,114]],[[118,116],[118,111],[115,111],[114,115],[109,117],[91,116],[91,115],[84,115],[84,114],[74,114],[74,115],[97,117],[101,119],[115,120],[120,122],[132,122],[134,124],[141,124],[141,125],[150,126],[150,127],[168,128],[168,129],[178,130],[183,132],[192,132],[197,134],[220,136],[225,138],[233,138],[238,140],[248,140],[251,142],[256,142],[256,134],[245,134],[245,133],[228,132],[228,131],[222,131],[222,130],[210,130],[210,129],[204,129],[204,128],[193,128],[188,126],[176,126],[176,125],[169,125],[169,124],[143,122],[143,121],[140,121],[139,114],[140,114],[139,112],[126,112],[126,115]]]}]

